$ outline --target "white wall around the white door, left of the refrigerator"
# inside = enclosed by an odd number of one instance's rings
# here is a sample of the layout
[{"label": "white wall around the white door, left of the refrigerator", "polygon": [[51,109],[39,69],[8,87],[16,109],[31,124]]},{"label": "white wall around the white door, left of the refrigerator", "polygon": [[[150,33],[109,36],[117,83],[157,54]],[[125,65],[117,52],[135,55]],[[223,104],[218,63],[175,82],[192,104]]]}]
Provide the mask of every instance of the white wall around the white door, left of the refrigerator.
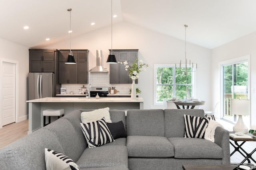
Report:
[{"label": "white wall around the white door, left of the refrigerator", "polygon": [[[26,41],[26,40],[24,40]],[[0,58],[18,62],[18,121],[28,119],[27,76],[29,72],[28,47],[17,45],[10,41],[0,39]],[[1,77],[2,78],[2,77]],[[0,81],[2,82],[2,81]],[[0,84],[2,89],[2,84]],[[0,94],[2,96],[2,94]]]}]

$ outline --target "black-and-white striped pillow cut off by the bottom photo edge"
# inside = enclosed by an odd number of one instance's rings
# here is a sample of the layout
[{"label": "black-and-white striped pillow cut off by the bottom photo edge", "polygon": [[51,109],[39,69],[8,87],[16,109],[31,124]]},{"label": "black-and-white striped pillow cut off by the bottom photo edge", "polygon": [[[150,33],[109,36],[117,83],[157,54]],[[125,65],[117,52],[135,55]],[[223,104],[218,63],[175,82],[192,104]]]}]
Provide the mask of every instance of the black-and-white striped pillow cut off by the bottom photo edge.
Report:
[{"label": "black-and-white striped pillow cut off by the bottom photo edge", "polygon": [[44,149],[46,170],[80,170],[68,156],[50,149]]}]

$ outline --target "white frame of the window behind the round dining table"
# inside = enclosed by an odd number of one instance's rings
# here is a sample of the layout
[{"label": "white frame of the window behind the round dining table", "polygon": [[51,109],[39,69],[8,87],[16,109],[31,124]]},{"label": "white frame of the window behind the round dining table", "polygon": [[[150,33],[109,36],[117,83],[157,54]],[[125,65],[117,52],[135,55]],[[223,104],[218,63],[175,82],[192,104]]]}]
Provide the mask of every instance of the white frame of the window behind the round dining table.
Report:
[{"label": "white frame of the window behind the round dining table", "polygon": [[[195,63],[194,63],[195,64]],[[173,84],[171,84],[173,86],[173,94],[176,94],[176,70],[175,70],[175,65],[176,67],[179,67],[180,64],[154,64],[154,94],[153,94],[153,100],[154,100],[154,105],[164,105],[164,103],[161,102],[157,102],[156,101],[156,87],[157,87],[157,80],[156,80],[156,74],[157,74],[157,68],[158,67],[173,67]],[[185,67],[185,64],[181,64],[181,67]],[[191,74],[192,78],[191,78],[191,83],[192,83],[192,97],[195,96],[195,92],[196,92],[196,71],[192,72]],[[177,84],[178,85],[178,84]]]}]

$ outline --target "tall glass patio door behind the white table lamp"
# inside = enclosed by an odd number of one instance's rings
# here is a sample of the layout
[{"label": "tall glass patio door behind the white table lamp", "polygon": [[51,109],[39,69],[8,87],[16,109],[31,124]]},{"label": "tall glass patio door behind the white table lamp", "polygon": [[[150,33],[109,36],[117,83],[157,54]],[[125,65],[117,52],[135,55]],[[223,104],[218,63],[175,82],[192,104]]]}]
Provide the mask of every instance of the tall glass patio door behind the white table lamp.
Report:
[{"label": "tall glass patio door behind the white table lamp", "polygon": [[[236,122],[236,115],[230,112],[231,99],[250,99],[250,79],[249,79],[249,61],[250,57],[240,57],[230,61],[224,61],[221,68],[221,117]],[[250,116],[243,116],[244,122],[250,122]]]}]

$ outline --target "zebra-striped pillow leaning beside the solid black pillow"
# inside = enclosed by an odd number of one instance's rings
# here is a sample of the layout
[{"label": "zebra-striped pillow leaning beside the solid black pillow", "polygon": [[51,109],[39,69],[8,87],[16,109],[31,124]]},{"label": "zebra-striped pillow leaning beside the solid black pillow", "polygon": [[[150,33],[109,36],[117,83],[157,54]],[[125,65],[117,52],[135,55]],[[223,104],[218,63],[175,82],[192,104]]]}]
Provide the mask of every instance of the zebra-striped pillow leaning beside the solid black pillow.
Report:
[{"label": "zebra-striped pillow leaning beside the solid black pillow", "polygon": [[80,126],[89,148],[99,147],[106,143],[114,142],[104,117],[97,121],[80,123]]}]

